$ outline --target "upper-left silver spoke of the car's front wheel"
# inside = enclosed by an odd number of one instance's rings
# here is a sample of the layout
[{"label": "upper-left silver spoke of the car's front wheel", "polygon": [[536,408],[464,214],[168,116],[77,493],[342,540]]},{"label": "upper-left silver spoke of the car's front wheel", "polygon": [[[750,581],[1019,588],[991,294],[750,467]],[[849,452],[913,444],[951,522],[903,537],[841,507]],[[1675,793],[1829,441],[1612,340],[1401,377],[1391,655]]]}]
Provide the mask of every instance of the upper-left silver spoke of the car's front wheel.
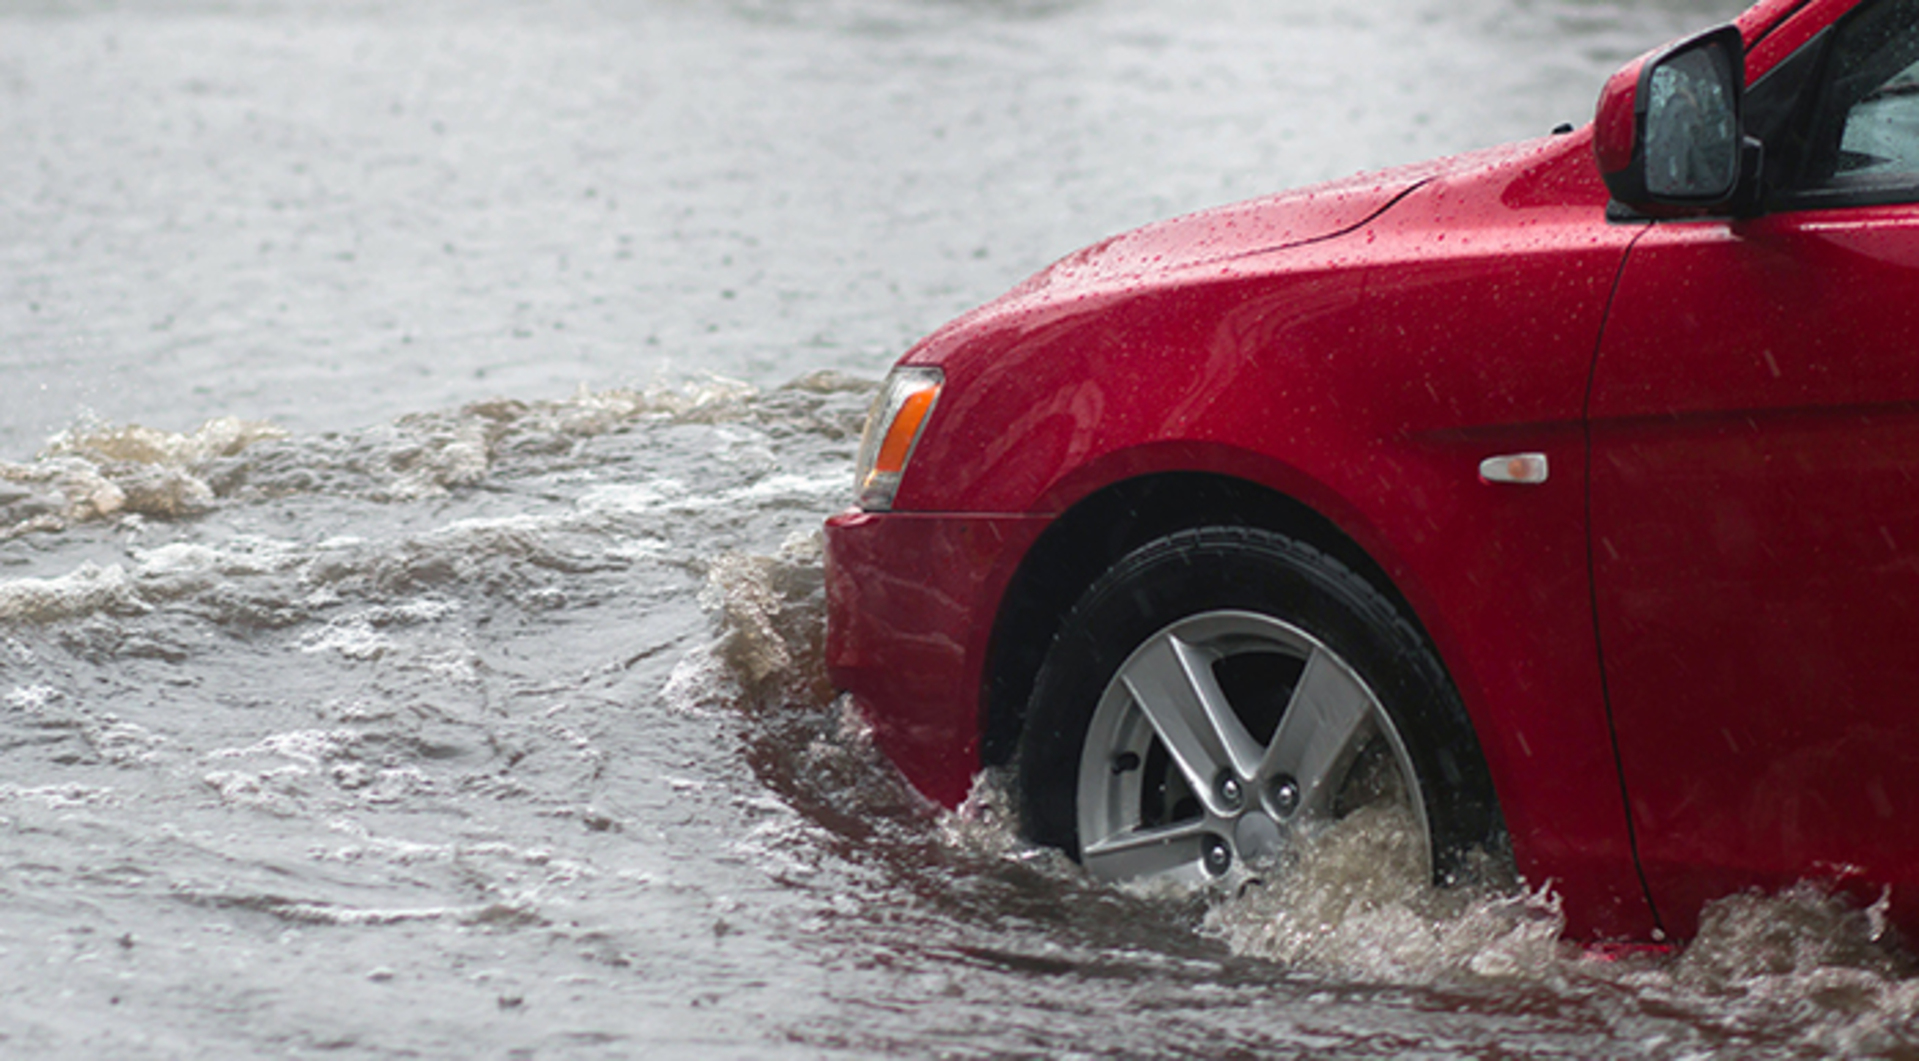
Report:
[{"label": "upper-left silver spoke of the car's front wheel", "polygon": [[1232,714],[1232,704],[1213,677],[1211,656],[1165,635],[1149,641],[1119,677],[1194,792],[1215,813],[1230,813],[1230,808],[1213,806],[1219,800],[1213,781],[1226,767],[1236,777],[1251,777],[1261,746]]}]

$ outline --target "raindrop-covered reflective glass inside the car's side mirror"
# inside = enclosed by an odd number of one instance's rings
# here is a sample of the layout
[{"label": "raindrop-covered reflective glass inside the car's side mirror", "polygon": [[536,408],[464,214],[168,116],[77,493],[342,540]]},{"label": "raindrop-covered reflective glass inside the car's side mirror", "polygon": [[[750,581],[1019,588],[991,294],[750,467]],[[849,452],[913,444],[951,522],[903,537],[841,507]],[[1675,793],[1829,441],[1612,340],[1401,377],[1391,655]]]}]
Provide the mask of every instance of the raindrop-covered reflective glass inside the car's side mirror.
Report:
[{"label": "raindrop-covered reflective glass inside the car's side mirror", "polygon": [[1647,192],[1719,200],[1739,180],[1739,107],[1725,48],[1677,52],[1647,84]]}]

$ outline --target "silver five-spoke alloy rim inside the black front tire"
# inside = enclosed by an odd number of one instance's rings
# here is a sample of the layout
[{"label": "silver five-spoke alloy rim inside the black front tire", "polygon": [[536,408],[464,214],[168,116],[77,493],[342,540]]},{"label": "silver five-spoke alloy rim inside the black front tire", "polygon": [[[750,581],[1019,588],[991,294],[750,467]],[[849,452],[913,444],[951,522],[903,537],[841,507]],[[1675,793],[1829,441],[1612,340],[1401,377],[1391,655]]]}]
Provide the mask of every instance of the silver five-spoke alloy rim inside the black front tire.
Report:
[{"label": "silver five-spoke alloy rim inside the black front tire", "polygon": [[1364,679],[1284,620],[1188,616],[1134,648],[1094,708],[1077,792],[1080,861],[1109,881],[1184,883],[1274,865],[1355,800],[1395,798],[1372,785],[1382,762],[1430,869],[1418,773]]}]

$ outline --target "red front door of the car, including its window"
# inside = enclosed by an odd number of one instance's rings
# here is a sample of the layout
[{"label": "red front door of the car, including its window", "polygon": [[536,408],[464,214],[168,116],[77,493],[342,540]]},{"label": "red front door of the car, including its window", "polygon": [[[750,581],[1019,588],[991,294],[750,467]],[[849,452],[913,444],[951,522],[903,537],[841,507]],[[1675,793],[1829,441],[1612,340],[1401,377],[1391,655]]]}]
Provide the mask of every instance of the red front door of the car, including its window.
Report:
[{"label": "red front door of the car, including its window", "polygon": [[1919,4],[1808,48],[1752,92],[1771,209],[1648,226],[1589,399],[1608,704],[1679,932],[1808,875],[1919,909]]}]

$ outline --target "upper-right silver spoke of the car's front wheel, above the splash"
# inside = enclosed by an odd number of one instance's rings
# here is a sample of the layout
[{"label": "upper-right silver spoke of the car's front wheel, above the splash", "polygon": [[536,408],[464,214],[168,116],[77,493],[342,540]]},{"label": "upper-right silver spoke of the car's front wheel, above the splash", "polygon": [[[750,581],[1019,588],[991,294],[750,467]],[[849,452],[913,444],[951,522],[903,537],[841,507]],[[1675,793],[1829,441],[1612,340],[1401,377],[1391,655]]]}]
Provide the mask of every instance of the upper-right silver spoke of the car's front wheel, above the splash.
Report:
[{"label": "upper-right silver spoke of the car's front wheel, above the splash", "polygon": [[1299,812],[1324,815],[1339,781],[1334,773],[1357,750],[1374,710],[1366,687],[1330,652],[1316,648],[1259,764],[1261,783],[1291,777],[1299,785]]}]

